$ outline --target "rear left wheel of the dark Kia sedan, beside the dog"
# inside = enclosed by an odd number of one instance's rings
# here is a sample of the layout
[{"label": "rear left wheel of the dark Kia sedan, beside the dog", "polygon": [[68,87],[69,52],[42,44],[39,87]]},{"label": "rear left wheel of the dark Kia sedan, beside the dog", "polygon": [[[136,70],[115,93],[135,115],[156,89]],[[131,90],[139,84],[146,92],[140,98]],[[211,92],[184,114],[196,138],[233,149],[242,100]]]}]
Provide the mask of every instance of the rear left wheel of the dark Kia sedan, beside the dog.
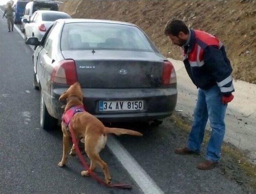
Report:
[{"label": "rear left wheel of the dark Kia sedan, beside the dog", "polygon": [[50,116],[48,110],[44,103],[44,96],[41,90],[41,100],[40,100],[40,125],[46,130],[50,131],[57,127],[58,120]]}]

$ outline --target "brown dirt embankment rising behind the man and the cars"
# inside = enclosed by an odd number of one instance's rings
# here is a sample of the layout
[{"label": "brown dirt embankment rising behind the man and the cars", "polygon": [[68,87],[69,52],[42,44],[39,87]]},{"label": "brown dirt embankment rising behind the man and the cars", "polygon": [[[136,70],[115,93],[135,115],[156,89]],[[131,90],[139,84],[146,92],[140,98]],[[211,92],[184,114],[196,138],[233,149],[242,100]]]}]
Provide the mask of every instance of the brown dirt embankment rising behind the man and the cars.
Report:
[{"label": "brown dirt embankment rising behind the man and the cars", "polygon": [[182,19],[224,43],[236,79],[256,83],[256,0],[63,0],[72,18],[131,22],[142,28],[166,57],[181,59],[164,35],[166,22]]}]

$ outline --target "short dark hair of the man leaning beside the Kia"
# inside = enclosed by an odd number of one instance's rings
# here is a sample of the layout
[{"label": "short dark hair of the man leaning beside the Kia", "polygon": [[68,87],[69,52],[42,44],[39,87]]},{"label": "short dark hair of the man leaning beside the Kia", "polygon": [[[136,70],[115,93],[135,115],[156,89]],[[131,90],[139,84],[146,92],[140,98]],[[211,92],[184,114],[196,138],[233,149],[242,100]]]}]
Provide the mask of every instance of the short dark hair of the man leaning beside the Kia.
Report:
[{"label": "short dark hair of the man leaning beside the Kia", "polygon": [[189,29],[186,26],[185,22],[182,20],[170,20],[167,22],[166,26],[164,27],[164,34],[168,36],[169,34],[173,36],[178,36],[179,32],[182,31],[184,34],[189,33]]}]

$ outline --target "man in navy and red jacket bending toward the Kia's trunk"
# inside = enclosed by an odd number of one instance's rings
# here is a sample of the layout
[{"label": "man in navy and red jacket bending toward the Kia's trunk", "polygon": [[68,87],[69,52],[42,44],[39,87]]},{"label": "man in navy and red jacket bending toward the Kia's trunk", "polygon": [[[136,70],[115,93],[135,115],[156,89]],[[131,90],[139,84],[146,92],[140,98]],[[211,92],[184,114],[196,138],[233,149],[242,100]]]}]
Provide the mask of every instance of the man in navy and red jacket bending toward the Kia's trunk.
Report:
[{"label": "man in navy and red jacket bending toward the Kia's trunk", "polygon": [[188,29],[182,20],[170,20],[164,29],[174,45],[182,48],[184,65],[192,82],[197,86],[198,99],[194,121],[186,147],[176,149],[176,154],[199,155],[207,120],[212,128],[206,151],[206,160],[196,165],[208,170],[220,160],[225,134],[224,117],[228,102],[234,98],[232,67],[222,42],[204,31]]}]

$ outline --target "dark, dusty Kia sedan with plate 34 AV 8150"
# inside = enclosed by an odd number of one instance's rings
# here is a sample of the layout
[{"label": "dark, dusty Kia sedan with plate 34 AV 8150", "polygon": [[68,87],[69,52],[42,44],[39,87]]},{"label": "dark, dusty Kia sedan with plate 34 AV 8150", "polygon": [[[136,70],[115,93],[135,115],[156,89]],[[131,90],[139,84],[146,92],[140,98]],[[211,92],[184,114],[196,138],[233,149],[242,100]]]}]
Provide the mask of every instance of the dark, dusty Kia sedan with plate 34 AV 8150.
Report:
[{"label": "dark, dusty Kia sedan with plate 34 AV 8150", "polygon": [[88,19],[56,20],[33,55],[34,87],[41,90],[40,123],[56,125],[59,96],[78,81],[86,111],[105,122],[168,117],[177,101],[176,73],[136,25]]}]

